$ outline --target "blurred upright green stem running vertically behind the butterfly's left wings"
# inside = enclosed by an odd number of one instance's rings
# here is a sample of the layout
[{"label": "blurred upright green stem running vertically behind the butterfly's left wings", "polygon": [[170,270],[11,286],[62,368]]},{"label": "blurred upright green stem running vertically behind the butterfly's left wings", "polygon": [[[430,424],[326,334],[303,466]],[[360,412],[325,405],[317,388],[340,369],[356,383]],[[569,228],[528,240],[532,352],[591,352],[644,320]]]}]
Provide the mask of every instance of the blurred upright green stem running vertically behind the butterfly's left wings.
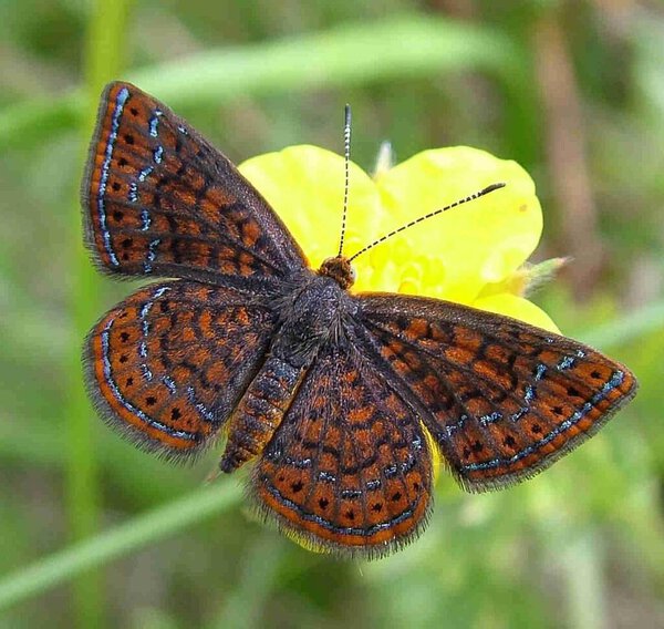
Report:
[{"label": "blurred upright green stem running vertically behind the butterfly's left wings", "polygon": [[[114,78],[124,65],[122,51],[129,2],[98,0],[90,13],[85,49],[86,115],[82,118],[82,142],[87,146],[90,130],[94,125],[96,101],[103,84]],[[81,151],[81,163],[85,156]],[[77,172],[77,169],[75,169]],[[97,316],[94,300],[97,279],[90,257],[82,245],[81,218],[77,209],[79,181],[75,182],[76,209],[72,212],[71,270],[75,278],[70,295],[71,317],[76,337],[85,332]],[[72,348],[70,357],[70,384],[64,405],[68,433],[66,509],[73,540],[94,535],[98,528],[98,483],[95,447],[96,422],[83,389],[81,350]],[[79,627],[100,627],[104,616],[101,575],[91,574],[74,582],[72,612]]]}]

